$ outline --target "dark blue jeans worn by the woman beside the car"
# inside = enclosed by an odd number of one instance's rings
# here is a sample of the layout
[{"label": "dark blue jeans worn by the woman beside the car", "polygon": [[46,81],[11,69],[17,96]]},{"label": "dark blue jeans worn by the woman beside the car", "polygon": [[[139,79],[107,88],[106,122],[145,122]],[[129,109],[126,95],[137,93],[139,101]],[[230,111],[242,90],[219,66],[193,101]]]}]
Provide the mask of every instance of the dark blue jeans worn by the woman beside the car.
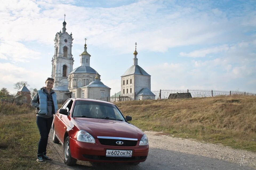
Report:
[{"label": "dark blue jeans worn by the woman beside the car", "polygon": [[52,123],[53,117],[44,118],[37,116],[37,127],[40,133],[37,154],[43,154],[43,152],[46,152],[48,135],[50,133]]}]

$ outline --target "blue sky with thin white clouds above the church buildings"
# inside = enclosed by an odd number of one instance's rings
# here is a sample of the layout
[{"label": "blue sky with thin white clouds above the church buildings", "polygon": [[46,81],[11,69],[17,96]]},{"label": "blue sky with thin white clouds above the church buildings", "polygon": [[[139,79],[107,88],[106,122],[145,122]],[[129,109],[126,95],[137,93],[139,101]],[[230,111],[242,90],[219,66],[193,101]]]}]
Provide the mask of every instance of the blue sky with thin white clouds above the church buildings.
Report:
[{"label": "blue sky with thin white clouds above the church buildings", "polygon": [[86,38],[90,66],[113,95],[138,65],[151,90],[238,90],[256,93],[256,1],[0,1],[0,89],[51,76],[55,34],[72,32],[73,69]]}]

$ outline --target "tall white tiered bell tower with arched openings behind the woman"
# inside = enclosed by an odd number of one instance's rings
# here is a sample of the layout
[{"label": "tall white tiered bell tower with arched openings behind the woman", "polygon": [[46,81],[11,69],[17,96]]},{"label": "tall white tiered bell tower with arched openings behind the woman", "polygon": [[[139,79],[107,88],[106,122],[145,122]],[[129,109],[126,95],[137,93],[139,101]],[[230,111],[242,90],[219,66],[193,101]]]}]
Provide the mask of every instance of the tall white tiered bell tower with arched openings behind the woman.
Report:
[{"label": "tall white tiered bell tower with arched openings behind the woman", "polygon": [[51,60],[52,70],[51,77],[55,79],[53,87],[67,86],[68,74],[73,70],[73,55],[72,55],[72,32],[66,32],[66,22],[64,22],[62,31],[55,35],[54,39],[54,55]]}]

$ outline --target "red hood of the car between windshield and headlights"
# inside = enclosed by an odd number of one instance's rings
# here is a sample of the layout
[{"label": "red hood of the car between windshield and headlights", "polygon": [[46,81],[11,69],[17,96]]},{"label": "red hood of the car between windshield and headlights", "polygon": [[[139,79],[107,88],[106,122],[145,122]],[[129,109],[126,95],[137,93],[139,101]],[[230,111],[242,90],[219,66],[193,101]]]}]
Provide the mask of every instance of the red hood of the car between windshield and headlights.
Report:
[{"label": "red hood of the car between windshield and headlights", "polygon": [[93,119],[74,118],[79,130],[85,130],[94,138],[97,136],[135,138],[140,140],[144,134],[139,128],[127,122]]}]

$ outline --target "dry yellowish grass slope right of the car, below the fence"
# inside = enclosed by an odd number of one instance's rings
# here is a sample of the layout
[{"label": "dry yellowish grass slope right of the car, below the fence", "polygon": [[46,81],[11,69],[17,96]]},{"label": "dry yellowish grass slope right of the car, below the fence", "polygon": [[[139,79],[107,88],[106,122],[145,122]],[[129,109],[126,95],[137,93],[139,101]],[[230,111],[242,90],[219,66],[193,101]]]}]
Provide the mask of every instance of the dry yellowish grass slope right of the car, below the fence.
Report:
[{"label": "dry yellowish grass slope right of the car, below the fence", "polygon": [[115,103],[143,130],[256,151],[256,96],[140,100]]}]

